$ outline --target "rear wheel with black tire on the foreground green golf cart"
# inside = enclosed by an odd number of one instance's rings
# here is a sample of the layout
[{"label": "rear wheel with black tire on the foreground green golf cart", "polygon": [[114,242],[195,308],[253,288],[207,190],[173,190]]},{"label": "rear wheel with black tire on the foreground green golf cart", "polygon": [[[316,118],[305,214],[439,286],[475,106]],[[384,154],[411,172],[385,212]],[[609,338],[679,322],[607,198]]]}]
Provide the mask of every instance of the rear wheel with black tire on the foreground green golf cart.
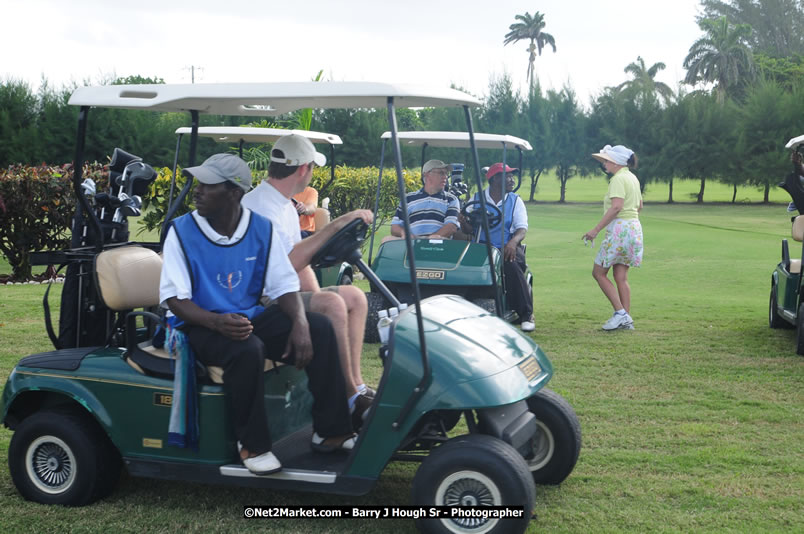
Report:
[{"label": "rear wheel with black tire on the foreground green golf cart", "polygon": [[[61,482],[65,485],[62,490],[57,484],[46,491],[43,477],[34,472],[33,465],[28,469],[29,453],[32,463],[36,450],[43,447],[72,464],[67,480]],[[24,419],[8,448],[14,485],[25,499],[41,504],[84,506],[102,499],[114,489],[121,466],[117,451],[98,424],[89,416],[70,412],[43,411]]]}]

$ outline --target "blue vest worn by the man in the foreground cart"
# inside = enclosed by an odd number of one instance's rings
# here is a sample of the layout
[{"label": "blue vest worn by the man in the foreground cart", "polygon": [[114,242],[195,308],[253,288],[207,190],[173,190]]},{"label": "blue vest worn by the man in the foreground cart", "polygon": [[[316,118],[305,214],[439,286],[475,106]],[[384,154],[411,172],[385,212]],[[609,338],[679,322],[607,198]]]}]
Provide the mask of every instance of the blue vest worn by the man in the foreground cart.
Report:
[{"label": "blue vest worn by the man in the foreground cart", "polygon": [[215,313],[242,313],[249,319],[265,310],[259,300],[271,250],[271,221],[252,212],[245,235],[231,245],[210,241],[189,213],[172,224],[187,261],[194,303]]}]

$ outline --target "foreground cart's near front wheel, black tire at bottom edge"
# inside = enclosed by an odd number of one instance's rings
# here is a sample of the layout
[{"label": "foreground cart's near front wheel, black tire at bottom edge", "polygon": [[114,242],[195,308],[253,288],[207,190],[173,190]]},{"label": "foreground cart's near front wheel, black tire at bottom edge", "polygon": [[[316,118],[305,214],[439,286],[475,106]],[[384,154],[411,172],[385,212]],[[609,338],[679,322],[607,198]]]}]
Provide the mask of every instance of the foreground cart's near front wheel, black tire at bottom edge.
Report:
[{"label": "foreground cart's near front wheel, black tire at bottom edge", "polygon": [[528,466],[502,440],[483,434],[453,438],[424,459],[411,488],[416,506],[523,506],[515,518],[419,518],[416,527],[430,534],[508,534],[525,532],[535,495]]}]

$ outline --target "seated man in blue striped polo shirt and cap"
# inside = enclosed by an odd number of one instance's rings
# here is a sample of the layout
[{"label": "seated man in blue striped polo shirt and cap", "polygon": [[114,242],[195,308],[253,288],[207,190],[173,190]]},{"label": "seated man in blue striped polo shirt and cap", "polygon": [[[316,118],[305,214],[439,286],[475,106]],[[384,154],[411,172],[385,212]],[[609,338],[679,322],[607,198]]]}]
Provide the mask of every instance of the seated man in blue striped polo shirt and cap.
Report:
[{"label": "seated man in blue striped polo shirt and cap", "polygon": [[[422,188],[405,196],[411,237],[450,239],[458,230],[460,202],[445,191],[452,167],[441,160],[431,159],[422,166]],[[405,237],[402,205],[396,208],[391,220],[391,235]]]}]

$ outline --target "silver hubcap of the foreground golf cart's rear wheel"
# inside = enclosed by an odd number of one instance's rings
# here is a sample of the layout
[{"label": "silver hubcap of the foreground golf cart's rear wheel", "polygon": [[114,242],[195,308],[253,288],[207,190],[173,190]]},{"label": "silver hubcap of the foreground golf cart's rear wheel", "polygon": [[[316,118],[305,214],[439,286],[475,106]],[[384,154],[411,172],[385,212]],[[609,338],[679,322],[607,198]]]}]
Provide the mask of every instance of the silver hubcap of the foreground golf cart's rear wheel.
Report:
[{"label": "silver hubcap of the foreground golf cart's rear wheel", "polygon": [[75,457],[67,444],[55,436],[42,436],[31,443],[25,468],[31,482],[45,493],[63,493],[75,481]]}]

